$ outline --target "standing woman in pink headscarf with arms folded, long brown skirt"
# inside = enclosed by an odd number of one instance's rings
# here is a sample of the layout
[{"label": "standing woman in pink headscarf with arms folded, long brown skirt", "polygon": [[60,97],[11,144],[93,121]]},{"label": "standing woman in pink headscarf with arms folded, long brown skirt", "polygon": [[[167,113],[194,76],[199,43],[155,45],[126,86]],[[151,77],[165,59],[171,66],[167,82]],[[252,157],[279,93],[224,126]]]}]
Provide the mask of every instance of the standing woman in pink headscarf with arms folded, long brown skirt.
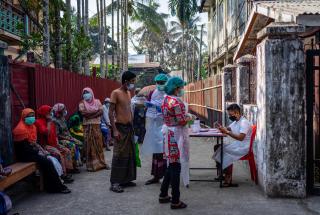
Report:
[{"label": "standing woman in pink headscarf with arms folded, long brown skirt", "polygon": [[94,98],[92,89],[88,87],[83,89],[82,98],[79,111],[83,116],[87,170],[94,172],[109,169],[104,159],[103,137],[100,130],[102,104],[99,99]]}]

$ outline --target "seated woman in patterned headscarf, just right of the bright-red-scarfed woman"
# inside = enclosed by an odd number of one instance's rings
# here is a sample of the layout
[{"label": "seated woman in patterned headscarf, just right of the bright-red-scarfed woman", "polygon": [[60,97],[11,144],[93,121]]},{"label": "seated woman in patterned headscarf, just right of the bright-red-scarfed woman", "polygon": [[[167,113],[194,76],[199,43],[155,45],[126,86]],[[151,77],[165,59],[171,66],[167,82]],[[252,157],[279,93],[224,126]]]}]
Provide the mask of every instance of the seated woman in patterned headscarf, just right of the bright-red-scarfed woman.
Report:
[{"label": "seated woman in patterned headscarf, just right of the bright-red-scarfed woman", "polygon": [[80,148],[82,148],[82,142],[73,138],[68,130],[65,116],[67,110],[64,104],[57,103],[52,108],[52,121],[55,123],[57,128],[59,144],[67,147],[72,154],[73,171],[72,173],[80,173],[77,168],[81,166]]}]

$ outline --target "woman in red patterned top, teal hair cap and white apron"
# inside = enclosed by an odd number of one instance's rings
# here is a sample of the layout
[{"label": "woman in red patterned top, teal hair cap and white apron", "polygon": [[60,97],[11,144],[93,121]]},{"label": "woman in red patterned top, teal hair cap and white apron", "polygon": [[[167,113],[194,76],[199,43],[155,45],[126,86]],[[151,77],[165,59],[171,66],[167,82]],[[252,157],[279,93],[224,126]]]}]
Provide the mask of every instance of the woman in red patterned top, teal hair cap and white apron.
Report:
[{"label": "woman in red patterned top, teal hair cap and white apron", "polygon": [[[171,209],[183,209],[187,205],[180,201],[180,173],[181,162],[189,159],[188,144],[188,121],[192,117],[187,114],[186,106],[180,97],[183,96],[185,82],[172,77],[165,85],[166,96],[162,104],[164,126],[164,152],[168,160],[168,167],[162,181],[160,203],[170,203]],[[168,196],[169,185],[171,184],[172,198]]]}]

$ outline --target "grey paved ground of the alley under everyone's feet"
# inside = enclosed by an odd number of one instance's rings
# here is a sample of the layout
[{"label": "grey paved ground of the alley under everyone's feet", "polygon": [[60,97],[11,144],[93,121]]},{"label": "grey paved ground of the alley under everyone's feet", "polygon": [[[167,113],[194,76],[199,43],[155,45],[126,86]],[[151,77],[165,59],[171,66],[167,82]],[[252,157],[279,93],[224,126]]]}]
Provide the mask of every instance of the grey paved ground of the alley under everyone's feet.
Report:
[{"label": "grey paved ground of the alley under everyone's feet", "polygon": [[[208,140],[192,139],[191,166],[206,167],[214,163],[212,145]],[[106,153],[110,163],[111,153]],[[188,204],[182,211],[172,211],[169,205],[158,204],[160,184],[145,186],[150,178],[150,159],[143,160],[138,169],[137,187],[122,194],[109,191],[110,171],[88,173],[83,171],[75,176],[70,186],[72,194],[30,193],[14,204],[10,214],[21,215],[308,215],[320,214],[320,197],[306,200],[271,199],[264,196],[258,186],[249,181],[249,175],[235,166],[234,181],[238,188],[220,189],[218,183],[191,182],[190,188],[181,188],[181,199]],[[192,178],[214,177],[211,171],[192,171]]]}]

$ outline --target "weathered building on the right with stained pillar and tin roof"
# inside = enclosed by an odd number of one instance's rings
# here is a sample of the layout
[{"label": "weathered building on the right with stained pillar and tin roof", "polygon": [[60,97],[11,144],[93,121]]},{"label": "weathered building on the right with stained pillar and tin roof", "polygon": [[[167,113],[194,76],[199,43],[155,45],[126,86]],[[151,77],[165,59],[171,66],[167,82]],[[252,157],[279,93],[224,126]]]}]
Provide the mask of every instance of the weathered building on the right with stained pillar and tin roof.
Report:
[{"label": "weathered building on the right with stained pillar and tin roof", "polygon": [[268,196],[320,193],[319,8],[318,0],[201,2],[222,111],[236,102],[257,125],[255,159]]}]

